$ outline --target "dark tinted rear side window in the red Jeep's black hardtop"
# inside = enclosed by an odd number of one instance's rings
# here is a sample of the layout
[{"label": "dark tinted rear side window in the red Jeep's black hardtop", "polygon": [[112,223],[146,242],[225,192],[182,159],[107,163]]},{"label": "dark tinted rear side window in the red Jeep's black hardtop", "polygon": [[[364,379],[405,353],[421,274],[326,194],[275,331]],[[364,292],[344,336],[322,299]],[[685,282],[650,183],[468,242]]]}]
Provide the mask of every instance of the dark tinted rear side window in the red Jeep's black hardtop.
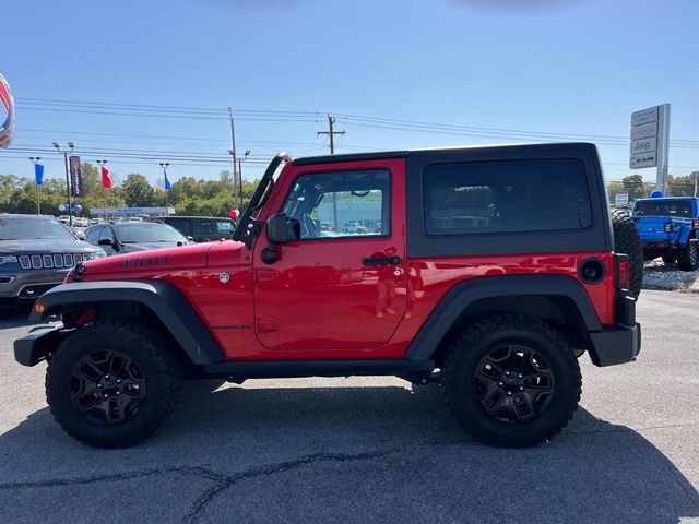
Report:
[{"label": "dark tinted rear side window in the red Jeep's black hardtop", "polygon": [[423,174],[428,235],[584,229],[592,225],[576,159],[435,164]]}]

